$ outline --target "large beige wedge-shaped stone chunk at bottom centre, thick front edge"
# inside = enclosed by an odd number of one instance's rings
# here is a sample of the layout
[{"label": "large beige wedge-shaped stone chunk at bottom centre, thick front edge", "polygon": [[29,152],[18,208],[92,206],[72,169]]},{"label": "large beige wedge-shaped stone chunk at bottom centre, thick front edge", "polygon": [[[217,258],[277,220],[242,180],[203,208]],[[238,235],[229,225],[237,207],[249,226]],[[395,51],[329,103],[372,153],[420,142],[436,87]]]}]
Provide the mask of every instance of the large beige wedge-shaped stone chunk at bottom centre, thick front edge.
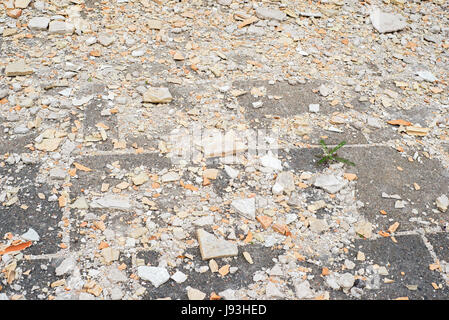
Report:
[{"label": "large beige wedge-shaped stone chunk at bottom centre, thick front edge", "polygon": [[238,255],[238,247],[236,244],[226,240],[217,239],[213,234],[210,234],[203,229],[198,229],[196,234],[200,246],[201,258],[203,260]]}]

